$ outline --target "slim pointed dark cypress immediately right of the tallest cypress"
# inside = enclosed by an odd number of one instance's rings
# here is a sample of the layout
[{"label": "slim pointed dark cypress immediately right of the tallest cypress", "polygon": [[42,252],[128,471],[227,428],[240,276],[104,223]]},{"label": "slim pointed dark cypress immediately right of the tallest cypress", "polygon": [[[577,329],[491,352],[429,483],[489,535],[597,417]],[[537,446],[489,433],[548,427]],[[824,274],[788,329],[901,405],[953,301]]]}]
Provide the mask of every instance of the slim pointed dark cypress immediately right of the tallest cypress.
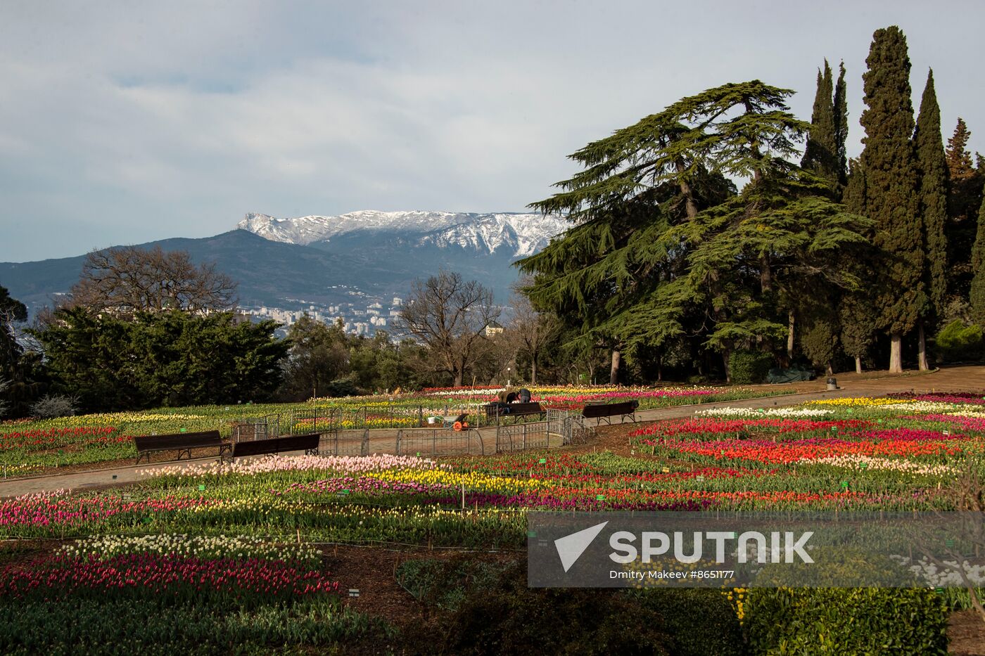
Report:
[{"label": "slim pointed dark cypress immediately right of the tallest cypress", "polygon": [[920,101],[916,132],[913,135],[917,169],[920,172],[920,216],[924,234],[925,264],[923,288],[928,303],[918,323],[919,365],[928,368],[924,324],[944,310],[948,292],[948,244],[944,227],[948,221],[948,164],[941,136],[941,107],[934,89],[934,71],[927,75],[927,86]]}]

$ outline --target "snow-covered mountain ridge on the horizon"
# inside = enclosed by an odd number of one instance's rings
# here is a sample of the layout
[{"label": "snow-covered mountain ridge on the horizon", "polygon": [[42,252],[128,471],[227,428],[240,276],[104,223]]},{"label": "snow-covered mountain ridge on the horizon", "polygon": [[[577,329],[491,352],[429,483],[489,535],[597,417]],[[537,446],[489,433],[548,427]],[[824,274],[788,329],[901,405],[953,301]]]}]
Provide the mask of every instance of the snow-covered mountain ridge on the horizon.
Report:
[{"label": "snow-covered mountain ridge on the horizon", "polygon": [[[532,255],[569,228],[562,219],[540,214],[379,212],[364,210],[337,217],[275,219],[250,213],[236,226],[271,241],[330,248],[340,237],[357,235],[400,241],[406,246],[464,248],[513,258]],[[335,245],[335,244],[333,244]]]}]

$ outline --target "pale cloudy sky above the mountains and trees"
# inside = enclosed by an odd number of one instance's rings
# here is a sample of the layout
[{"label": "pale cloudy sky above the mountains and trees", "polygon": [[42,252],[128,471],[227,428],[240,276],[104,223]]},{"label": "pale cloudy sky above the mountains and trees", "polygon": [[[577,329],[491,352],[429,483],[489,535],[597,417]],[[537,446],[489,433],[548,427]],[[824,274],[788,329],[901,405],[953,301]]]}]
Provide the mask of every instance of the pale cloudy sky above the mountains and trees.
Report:
[{"label": "pale cloudy sky above the mountains and trees", "polygon": [[[859,6],[861,5],[861,7]],[[0,3],[0,261],[276,217],[522,211],[564,156],[708,87],[759,78],[810,119],[848,68],[850,148],[874,30],[934,68],[985,152],[985,3]]]}]

